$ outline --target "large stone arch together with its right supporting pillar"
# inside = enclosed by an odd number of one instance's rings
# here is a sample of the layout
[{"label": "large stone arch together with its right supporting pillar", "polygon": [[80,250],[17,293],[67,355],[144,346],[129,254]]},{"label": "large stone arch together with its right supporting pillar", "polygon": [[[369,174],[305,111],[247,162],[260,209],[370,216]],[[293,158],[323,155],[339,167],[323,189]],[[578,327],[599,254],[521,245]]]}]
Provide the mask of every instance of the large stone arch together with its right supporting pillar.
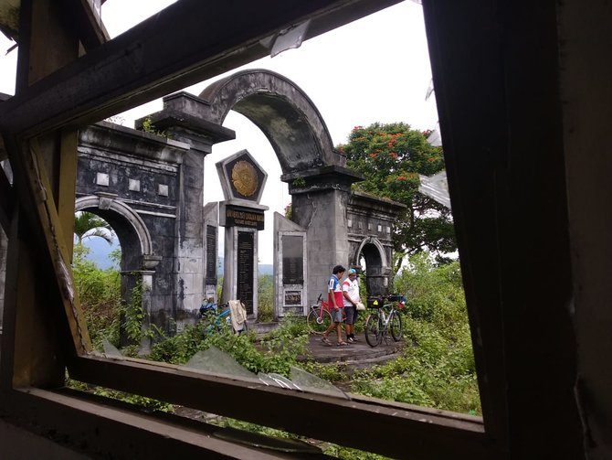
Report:
[{"label": "large stone arch together with its right supporting pillar", "polygon": [[[332,267],[349,261],[346,206],[362,179],[335,151],[322,115],[293,81],[269,70],[244,70],[218,80],[183,110],[220,125],[230,110],[255,123],[269,139],[289,184],[292,220],[309,241],[307,292],[313,303],[325,292]],[[302,305],[305,306],[305,305]]]}]

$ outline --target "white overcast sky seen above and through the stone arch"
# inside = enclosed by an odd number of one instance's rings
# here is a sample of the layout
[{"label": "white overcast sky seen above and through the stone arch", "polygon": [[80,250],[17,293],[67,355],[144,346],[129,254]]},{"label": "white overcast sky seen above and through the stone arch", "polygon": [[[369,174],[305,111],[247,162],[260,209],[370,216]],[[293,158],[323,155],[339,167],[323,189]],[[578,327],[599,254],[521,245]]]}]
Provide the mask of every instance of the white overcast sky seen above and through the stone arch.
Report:
[{"label": "white overcast sky seen above and through the stone arch", "polygon": [[[102,20],[111,37],[120,35],[167,5],[170,0],[107,0]],[[16,50],[5,55],[13,42],[0,34],[0,92],[15,91]],[[405,1],[347,26],[311,38],[301,48],[274,58],[254,61],[240,69],[274,70],[292,80],[308,94],[321,112],[333,144],[346,142],[355,125],[405,122],[420,130],[438,122],[432,95],[425,100],[431,70],[422,6]],[[234,73],[219,75],[216,79]],[[213,80],[185,91],[199,95]],[[161,100],[121,113],[124,125],[162,109]],[[272,262],[272,212],[282,213],[290,203],[286,184],[280,182],[280,165],[265,136],[236,112],[227,115],[225,126],[237,139],[213,147],[206,157],[205,202],[223,199],[215,163],[247,149],[266,168],[268,182],[261,203],[266,212],[266,230],[259,232],[259,260]],[[222,233],[222,232],[221,232]],[[223,244],[223,237],[220,238]],[[223,255],[221,252],[219,255]]]}]

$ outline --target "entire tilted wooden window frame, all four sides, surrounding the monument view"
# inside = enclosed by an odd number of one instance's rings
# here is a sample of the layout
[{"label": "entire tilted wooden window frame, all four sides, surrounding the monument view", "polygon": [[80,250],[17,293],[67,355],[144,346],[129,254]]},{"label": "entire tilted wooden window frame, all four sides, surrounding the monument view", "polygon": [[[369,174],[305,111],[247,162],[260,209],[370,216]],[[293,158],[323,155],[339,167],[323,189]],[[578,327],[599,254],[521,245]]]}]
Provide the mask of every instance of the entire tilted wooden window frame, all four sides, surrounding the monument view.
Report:
[{"label": "entire tilted wooden window frame, all four sides, surrounding the monument view", "polygon": [[[347,22],[353,16],[364,16],[367,11],[393,3],[394,0],[385,3],[375,0],[271,0],[266,9],[262,9],[257,3],[240,0],[241,13],[237,16],[237,5],[211,6],[199,0],[180,0],[122,36],[91,50],[83,58],[43,76],[29,87],[24,85],[16,97],[0,105],[0,130],[5,136],[11,161],[16,164],[19,179],[16,186],[19,211],[27,213],[34,231],[44,241],[42,247],[55,273],[54,282],[62,293],[59,297],[71,326],[73,346],[76,353],[82,355],[67,357],[72,358],[69,362],[71,376],[391,456],[406,454],[403,445],[396,442],[398,439],[410,445],[412,457],[423,459],[448,458],[458,454],[475,459],[503,458],[510,455],[509,446],[519,445],[516,440],[524,439],[521,437],[524,433],[517,432],[518,425],[512,417],[517,417],[517,402],[533,401],[533,396],[532,399],[523,398],[516,386],[505,386],[509,371],[524,369],[520,358],[525,355],[512,356],[514,347],[520,344],[504,327],[514,327],[513,331],[518,328],[512,311],[504,308],[503,301],[517,300],[508,292],[521,280],[514,279],[510,286],[507,280],[512,278],[504,272],[507,270],[504,257],[508,254],[491,250],[499,244],[514,248],[506,244],[511,238],[508,230],[498,225],[512,217],[512,211],[508,211],[512,209],[512,200],[503,193],[504,185],[513,184],[503,167],[510,159],[507,150],[510,141],[505,128],[507,123],[519,123],[500,108],[511,109],[512,103],[507,99],[509,94],[519,94],[518,91],[506,93],[507,88],[502,85],[507,77],[503,72],[507,57],[496,54],[502,45],[499,30],[491,27],[484,34],[462,35],[470,27],[480,30],[481,24],[494,22],[499,13],[497,8],[510,8],[510,2],[501,0],[487,7],[471,2],[469,8],[475,15],[469,24],[456,20],[458,16],[466,17],[465,13],[460,13],[460,10],[465,10],[465,4],[451,6],[448,2],[431,0],[425,9],[436,88],[441,102],[442,130],[445,148],[448,148],[449,180],[457,211],[459,242],[462,250],[468,249],[461,252],[461,257],[467,269],[464,273],[487,433],[480,420],[457,414],[360,397],[343,401],[135,360],[88,357],[84,355],[88,348],[78,333],[82,316],[78,311],[75,313],[74,305],[66,302],[70,287],[69,251],[65,247],[67,237],[61,235],[61,224],[69,219],[69,209],[56,209],[58,202],[61,208],[61,199],[53,200],[51,188],[58,180],[60,183],[62,179],[74,181],[73,158],[70,156],[73,140],[66,137],[61,141],[65,149],[59,155],[59,163],[64,158],[67,163],[59,166],[59,171],[50,171],[47,177],[47,168],[42,161],[45,155],[37,149],[36,141],[32,140],[34,136],[66,125],[68,130],[65,133],[69,134],[71,127],[100,120],[264,56],[281,29],[299,24],[304,18],[312,18],[308,35],[311,37]],[[439,5],[443,6],[438,9]],[[456,14],[453,14],[454,7],[457,8]],[[523,7],[529,9],[531,6]],[[270,9],[274,10],[273,15],[270,15]],[[548,10],[543,16],[554,15]],[[210,27],[203,27],[205,21]],[[175,27],[176,24],[181,27]],[[483,40],[483,37],[489,39]],[[194,43],[199,46],[194,46]],[[512,52],[517,50],[521,48],[514,48]],[[479,62],[483,55],[490,59]],[[462,73],[465,67],[470,71]],[[456,76],[456,80],[446,80],[448,75]],[[471,88],[475,81],[485,83],[474,89],[474,93],[466,93],[465,88]],[[547,94],[549,99],[550,96]],[[480,105],[475,106],[474,101]],[[442,102],[448,102],[450,106],[444,106]],[[457,110],[468,105],[471,113],[477,115],[463,118]],[[484,139],[480,123],[493,130]],[[552,134],[558,132],[553,130]],[[52,144],[49,139],[47,145]],[[474,145],[480,149],[472,152],[470,158],[461,155]],[[474,180],[475,177],[478,180]],[[560,184],[559,179],[559,171],[555,170],[555,186]],[[59,187],[58,196],[67,197],[70,187],[71,184]],[[472,199],[479,205],[470,205]],[[482,202],[485,203],[484,211]],[[529,209],[533,212],[533,208]],[[62,217],[58,217],[58,212]],[[562,214],[553,214],[552,218],[561,221]],[[557,236],[563,240],[563,235]],[[491,254],[494,254],[492,264]],[[25,265],[23,270],[27,274],[33,269]],[[26,274],[22,279],[26,279]],[[536,278],[532,276],[530,279]],[[542,324],[543,316],[538,318]],[[519,381],[514,375],[511,383]],[[26,379],[23,381],[27,382]],[[211,398],[211,394],[216,397]],[[34,400],[37,396],[33,397]],[[511,406],[515,412],[511,412]],[[306,418],[300,420],[296,413]],[[322,421],[322,413],[333,414],[332,420]],[[95,420],[96,415],[90,413],[90,417],[90,420]],[[342,431],[337,430],[337,420],[343,421]],[[513,433],[510,433],[511,426]]]}]

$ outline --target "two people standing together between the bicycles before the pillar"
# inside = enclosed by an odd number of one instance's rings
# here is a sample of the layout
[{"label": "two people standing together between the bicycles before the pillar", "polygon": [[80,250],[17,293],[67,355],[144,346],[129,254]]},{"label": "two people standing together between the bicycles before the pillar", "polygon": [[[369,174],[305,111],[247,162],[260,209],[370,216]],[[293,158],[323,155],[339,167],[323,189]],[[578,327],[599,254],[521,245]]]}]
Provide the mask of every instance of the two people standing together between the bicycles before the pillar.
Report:
[{"label": "two people standing together between the bicycles before the pillar", "polygon": [[[322,342],[325,345],[331,346],[332,342],[328,338],[330,333],[335,330],[337,344],[346,346],[349,343],[356,342],[354,337],[354,322],[357,319],[357,303],[359,302],[359,284],[357,283],[357,272],[352,268],[349,270],[348,278],[341,283],[346,269],[342,265],[333,267],[332,276],[327,283],[328,303],[330,305],[330,313],[332,314],[332,324],[323,332]],[[340,325],[343,322],[343,311],[346,313],[346,337],[345,342],[342,337]]]}]

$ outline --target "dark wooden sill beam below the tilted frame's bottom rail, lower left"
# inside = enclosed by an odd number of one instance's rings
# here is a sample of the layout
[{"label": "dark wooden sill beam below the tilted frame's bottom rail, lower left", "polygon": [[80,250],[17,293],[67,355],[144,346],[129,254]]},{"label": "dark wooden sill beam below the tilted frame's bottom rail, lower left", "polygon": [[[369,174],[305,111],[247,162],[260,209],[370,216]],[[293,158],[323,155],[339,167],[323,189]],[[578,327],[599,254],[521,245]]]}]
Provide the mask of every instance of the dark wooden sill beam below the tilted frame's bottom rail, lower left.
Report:
[{"label": "dark wooden sill beam below the tilted frame's bottom rail, lower left", "polygon": [[[155,459],[168,453],[176,458],[206,459],[330,458],[295,454],[291,449],[296,446],[290,443],[284,446],[286,452],[261,448],[267,440],[257,434],[237,442],[232,430],[171,414],[144,413],[121,401],[77,395],[74,391],[16,390],[11,401],[0,408],[0,423],[7,409],[18,413],[17,426],[88,458]],[[275,443],[277,449],[282,443]]]}]

